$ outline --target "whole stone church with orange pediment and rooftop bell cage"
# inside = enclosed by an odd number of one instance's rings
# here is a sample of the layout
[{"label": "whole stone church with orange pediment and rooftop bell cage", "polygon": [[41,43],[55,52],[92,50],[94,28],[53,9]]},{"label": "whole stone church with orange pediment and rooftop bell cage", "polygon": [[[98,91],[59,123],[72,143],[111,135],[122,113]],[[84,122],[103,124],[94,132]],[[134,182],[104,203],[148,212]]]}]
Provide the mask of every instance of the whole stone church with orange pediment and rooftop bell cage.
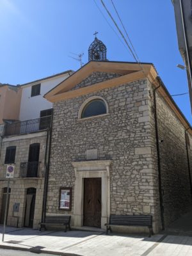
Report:
[{"label": "whole stone church with orange pediment and rooftop bell cage", "polygon": [[89,62],[45,94],[53,103],[46,215],[104,228],[151,214],[154,232],[191,206],[192,130],[152,63]]}]

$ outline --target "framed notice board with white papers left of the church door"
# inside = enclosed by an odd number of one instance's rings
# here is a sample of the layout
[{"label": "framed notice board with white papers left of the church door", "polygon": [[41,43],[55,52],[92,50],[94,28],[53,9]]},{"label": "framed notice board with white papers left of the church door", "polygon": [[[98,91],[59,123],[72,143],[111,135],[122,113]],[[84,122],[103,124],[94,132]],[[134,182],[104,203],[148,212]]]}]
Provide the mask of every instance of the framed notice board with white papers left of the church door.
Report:
[{"label": "framed notice board with white papers left of the church door", "polygon": [[61,210],[70,211],[71,194],[72,194],[72,188],[60,188],[60,209]]}]

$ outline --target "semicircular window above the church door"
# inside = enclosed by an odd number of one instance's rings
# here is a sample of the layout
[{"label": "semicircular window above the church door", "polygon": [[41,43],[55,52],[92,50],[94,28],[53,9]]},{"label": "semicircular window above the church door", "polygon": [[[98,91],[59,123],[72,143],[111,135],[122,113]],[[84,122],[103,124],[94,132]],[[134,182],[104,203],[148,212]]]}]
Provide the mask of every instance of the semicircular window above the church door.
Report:
[{"label": "semicircular window above the church door", "polygon": [[81,112],[81,118],[86,118],[90,116],[104,115],[107,113],[107,108],[104,100],[93,99],[88,102]]}]

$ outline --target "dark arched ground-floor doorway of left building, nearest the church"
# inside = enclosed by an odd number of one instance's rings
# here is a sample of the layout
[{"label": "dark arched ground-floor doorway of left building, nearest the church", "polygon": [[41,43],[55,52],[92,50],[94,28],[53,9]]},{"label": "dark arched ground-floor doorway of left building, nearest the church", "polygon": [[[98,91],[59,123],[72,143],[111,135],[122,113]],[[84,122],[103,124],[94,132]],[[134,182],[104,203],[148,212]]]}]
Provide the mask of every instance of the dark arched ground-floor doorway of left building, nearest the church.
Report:
[{"label": "dark arched ground-floor doorway of left building, nearest the church", "polygon": [[33,219],[35,213],[35,197],[36,188],[28,188],[26,195],[26,214],[24,220],[24,226],[33,228]]}]

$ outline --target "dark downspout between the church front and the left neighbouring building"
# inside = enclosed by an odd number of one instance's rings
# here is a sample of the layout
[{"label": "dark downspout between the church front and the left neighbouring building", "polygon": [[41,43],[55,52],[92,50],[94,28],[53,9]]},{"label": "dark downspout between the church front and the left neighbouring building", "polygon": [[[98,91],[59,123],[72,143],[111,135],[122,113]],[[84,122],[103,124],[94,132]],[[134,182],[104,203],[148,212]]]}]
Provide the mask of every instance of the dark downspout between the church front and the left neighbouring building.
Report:
[{"label": "dark downspout between the church front and the left neighbouring building", "polygon": [[[48,161],[45,163],[45,183],[44,183],[44,196],[43,196],[43,207],[42,207],[42,222],[45,220],[46,214],[46,206],[47,206],[47,191],[48,191],[48,181],[49,181],[49,166],[50,166],[50,156],[51,156],[51,138],[52,138],[52,116],[53,116],[53,109],[51,115],[51,127],[49,129],[49,136],[47,136],[47,145],[48,146],[48,138],[49,138],[49,151],[48,151]],[[48,131],[47,131],[48,132]],[[48,133],[47,133],[48,135]],[[46,150],[47,151],[47,150]]]}]

